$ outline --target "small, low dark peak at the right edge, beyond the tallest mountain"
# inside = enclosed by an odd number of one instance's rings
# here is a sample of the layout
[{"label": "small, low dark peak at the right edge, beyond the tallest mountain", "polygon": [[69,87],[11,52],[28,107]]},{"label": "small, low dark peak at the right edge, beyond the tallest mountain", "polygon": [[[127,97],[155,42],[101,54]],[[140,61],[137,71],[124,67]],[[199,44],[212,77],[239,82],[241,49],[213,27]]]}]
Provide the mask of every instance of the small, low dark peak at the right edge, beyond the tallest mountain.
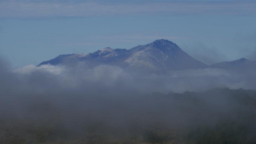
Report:
[{"label": "small, low dark peak at the right edge, beyond the tallest mountain", "polygon": [[246,58],[241,58],[234,61],[224,61],[221,63],[212,64],[211,68],[221,68],[228,70],[253,70],[256,69],[256,62],[250,61]]}]

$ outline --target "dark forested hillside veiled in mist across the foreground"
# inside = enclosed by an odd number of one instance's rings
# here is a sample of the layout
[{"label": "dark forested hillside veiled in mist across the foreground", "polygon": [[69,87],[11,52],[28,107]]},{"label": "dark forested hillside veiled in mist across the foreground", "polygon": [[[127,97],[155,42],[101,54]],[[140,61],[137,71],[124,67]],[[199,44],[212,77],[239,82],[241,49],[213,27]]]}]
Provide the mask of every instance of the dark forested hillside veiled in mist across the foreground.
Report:
[{"label": "dark forested hillside veiled in mist across the foreground", "polygon": [[[15,92],[12,92],[15,94]],[[0,143],[256,143],[256,91],[1,97]]]}]

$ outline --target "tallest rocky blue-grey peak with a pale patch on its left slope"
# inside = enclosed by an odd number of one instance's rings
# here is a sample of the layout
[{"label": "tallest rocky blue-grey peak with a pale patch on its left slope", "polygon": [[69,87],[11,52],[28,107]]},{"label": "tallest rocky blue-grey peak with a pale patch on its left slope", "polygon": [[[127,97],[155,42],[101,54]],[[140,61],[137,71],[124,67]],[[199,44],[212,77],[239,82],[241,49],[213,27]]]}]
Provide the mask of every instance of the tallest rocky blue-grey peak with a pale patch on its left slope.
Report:
[{"label": "tallest rocky blue-grey peak with a pale patch on its left slope", "polygon": [[125,60],[129,66],[150,67],[158,70],[183,70],[205,68],[207,65],[194,59],[175,43],[160,39],[129,49],[132,55]]}]

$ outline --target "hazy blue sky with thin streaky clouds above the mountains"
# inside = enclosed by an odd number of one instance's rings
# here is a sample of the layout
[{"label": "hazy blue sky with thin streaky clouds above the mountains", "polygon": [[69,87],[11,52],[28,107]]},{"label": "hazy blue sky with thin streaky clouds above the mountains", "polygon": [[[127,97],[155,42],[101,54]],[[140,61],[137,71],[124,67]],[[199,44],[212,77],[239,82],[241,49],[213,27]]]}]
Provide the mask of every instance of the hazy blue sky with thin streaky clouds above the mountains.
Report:
[{"label": "hazy blue sky with thin streaky clouds above the mountains", "polygon": [[256,60],[256,1],[0,1],[0,55],[13,67],[162,38],[206,64]]}]

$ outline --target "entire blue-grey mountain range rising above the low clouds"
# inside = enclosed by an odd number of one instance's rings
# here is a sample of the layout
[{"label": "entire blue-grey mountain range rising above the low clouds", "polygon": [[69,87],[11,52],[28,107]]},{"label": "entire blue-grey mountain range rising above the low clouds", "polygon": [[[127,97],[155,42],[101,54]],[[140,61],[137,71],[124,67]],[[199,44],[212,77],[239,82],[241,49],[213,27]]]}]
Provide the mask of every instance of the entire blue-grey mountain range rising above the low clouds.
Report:
[{"label": "entire blue-grey mountain range rising above the low clouds", "polygon": [[175,43],[159,39],[146,45],[139,45],[131,49],[112,49],[106,47],[89,54],[68,54],[44,61],[40,65],[74,64],[84,61],[88,67],[98,65],[117,65],[126,69],[146,71],[168,71],[199,68],[221,68],[229,70],[256,69],[256,61],[241,58],[235,61],[224,61],[206,65],[188,55]]}]

